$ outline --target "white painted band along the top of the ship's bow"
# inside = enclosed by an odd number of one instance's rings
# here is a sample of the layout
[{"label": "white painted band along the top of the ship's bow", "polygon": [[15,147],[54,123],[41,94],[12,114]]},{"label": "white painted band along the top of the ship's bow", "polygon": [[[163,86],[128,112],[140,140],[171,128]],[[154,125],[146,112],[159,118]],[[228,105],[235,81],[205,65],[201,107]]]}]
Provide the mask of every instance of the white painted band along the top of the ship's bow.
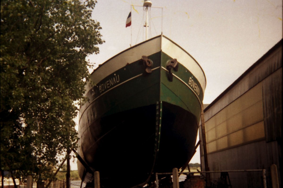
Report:
[{"label": "white painted band along the top of the ship's bow", "polygon": [[[97,84],[107,75],[114,73],[116,70],[124,67],[127,63],[131,64],[140,60],[142,55],[150,56],[161,50],[168,56],[177,58],[177,61],[185,66],[197,78],[202,90],[205,90],[206,79],[198,62],[196,62],[196,60],[183,48],[163,35],[135,45],[134,47],[113,56],[91,73],[91,80]],[[87,83],[86,90],[89,89],[89,83]]]}]

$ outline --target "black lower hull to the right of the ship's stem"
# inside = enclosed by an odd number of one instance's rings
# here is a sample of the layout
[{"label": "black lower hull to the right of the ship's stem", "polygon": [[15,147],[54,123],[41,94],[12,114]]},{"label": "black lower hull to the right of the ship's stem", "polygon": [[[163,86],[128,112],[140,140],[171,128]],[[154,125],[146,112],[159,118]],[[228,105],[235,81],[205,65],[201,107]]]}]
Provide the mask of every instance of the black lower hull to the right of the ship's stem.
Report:
[{"label": "black lower hull to the right of the ship's stem", "polygon": [[198,125],[196,117],[173,104],[162,104],[160,147],[155,172],[180,169],[194,154]]}]

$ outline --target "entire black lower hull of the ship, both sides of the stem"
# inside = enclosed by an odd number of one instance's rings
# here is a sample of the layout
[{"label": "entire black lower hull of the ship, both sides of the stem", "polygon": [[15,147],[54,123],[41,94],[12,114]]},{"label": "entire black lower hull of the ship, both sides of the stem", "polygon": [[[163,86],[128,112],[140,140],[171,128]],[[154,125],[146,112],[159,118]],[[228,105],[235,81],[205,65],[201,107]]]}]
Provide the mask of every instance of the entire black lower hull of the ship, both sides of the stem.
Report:
[{"label": "entire black lower hull of the ship, both sides of the stem", "polygon": [[88,165],[100,172],[101,187],[142,184],[152,172],[171,172],[192,157],[196,117],[162,102],[161,124],[159,144],[155,104],[102,117],[91,124],[82,135],[82,152]]}]

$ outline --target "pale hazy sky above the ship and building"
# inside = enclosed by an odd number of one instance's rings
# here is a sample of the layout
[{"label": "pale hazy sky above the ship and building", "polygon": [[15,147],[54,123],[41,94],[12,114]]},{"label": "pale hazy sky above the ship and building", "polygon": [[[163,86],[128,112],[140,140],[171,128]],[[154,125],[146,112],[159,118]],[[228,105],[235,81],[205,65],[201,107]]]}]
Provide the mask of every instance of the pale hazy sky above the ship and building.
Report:
[{"label": "pale hazy sky above the ship and building", "polygon": [[[97,0],[92,19],[100,23],[99,54],[87,60],[97,67],[145,40],[142,0]],[[160,35],[185,49],[202,67],[210,104],[246,69],[282,39],[282,0],[151,0],[149,38]],[[133,5],[133,6],[132,6]],[[131,11],[132,25],[125,27]],[[92,72],[92,70],[89,70]],[[78,124],[78,118],[75,120]],[[200,163],[199,148],[190,163]],[[76,162],[71,164],[76,170]]]}]

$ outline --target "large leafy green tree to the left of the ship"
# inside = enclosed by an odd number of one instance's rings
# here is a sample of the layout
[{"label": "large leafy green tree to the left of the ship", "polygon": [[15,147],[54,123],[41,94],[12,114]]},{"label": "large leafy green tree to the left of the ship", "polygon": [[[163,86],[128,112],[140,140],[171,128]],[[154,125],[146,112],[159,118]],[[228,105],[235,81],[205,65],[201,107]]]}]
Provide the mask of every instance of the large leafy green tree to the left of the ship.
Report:
[{"label": "large leafy green tree to the left of the ship", "polygon": [[1,1],[1,169],[14,177],[52,176],[78,139],[74,101],[98,53],[94,0]]}]

